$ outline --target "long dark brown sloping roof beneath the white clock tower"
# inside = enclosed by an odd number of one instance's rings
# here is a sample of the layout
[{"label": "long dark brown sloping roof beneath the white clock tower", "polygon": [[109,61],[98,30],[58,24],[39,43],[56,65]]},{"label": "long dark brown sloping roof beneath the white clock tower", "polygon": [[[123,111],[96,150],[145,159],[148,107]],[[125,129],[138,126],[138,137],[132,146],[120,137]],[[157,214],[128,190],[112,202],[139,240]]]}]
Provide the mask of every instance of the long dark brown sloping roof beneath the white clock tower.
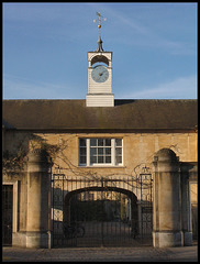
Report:
[{"label": "long dark brown sloping roof beneath the white clock tower", "polygon": [[89,108],[86,100],[3,100],[3,120],[19,130],[195,130],[197,100],[115,100]]}]

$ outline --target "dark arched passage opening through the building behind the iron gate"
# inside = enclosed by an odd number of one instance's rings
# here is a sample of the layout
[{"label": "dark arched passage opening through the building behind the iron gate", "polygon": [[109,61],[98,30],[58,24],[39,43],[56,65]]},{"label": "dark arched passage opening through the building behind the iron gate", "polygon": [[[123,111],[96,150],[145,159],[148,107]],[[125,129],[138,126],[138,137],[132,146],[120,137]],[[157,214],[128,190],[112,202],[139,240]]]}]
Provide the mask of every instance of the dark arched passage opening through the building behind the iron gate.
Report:
[{"label": "dark arched passage opening through the building behind the iron gate", "polygon": [[[101,194],[101,199],[90,199],[85,201],[76,201],[73,202],[74,198],[81,194]],[[111,194],[112,197],[110,198],[102,198],[102,194],[105,194],[108,196]],[[124,201],[123,201],[124,199]],[[130,219],[126,219],[122,217],[122,208],[124,206],[127,206],[127,202],[130,201],[130,209],[131,209],[131,216]],[[108,218],[108,212],[111,212],[112,209],[114,210],[118,208],[118,219],[113,219],[112,217]],[[82,219],[80,215],[82,213],[82,210],[86,210],[86,206],[91,208],[92,210],[95,207],[98,207],[93,213],[95,218],[91,219],[91,216],[84,216]],[[91,207],[92,206],[92,207]],[[93,207],[95,206],[95,207]],[[75,219],[74,216],[71,216],[71,207],[78,208],[78,217]],[[80,208],[85,207],[85,209]],[[81,210],[82,209],[82,210]],[[126,210],[126,209],[124,209]],[[88,211],[87,211],[88,212]],[[84,215],[84,213],[82,213]],[[126,216],[126,215],[125,215]],[[81,221],[80,221],[81,219]],[[134,238],[136,237],[137,232],[137,198],[136,196],[126,189],[119,188],[119,187],[87,187],[87,188],[80,188],[73,190],[68,193],[65,197],[65,210],[64,210],[64,222],[68,226],[71,224],[71,222],[75,221],[84,223],[84,227],[86,229],[86,237],[82,239],[82,243],[85,243],[85,246],[87,244],[90,244],[90,241],[92,241],[92,244],[96,245],[115,245],[116,242],[119,245],[123,245],[123,243],[130,243],[131,245],[131,235]],[[90,233],[90,234],[89,234]],[[116,238],[118,237],[118,238]],[[118,239],[118,241],[116,241]],[[92,245],[91,244],[91,245]]]}]

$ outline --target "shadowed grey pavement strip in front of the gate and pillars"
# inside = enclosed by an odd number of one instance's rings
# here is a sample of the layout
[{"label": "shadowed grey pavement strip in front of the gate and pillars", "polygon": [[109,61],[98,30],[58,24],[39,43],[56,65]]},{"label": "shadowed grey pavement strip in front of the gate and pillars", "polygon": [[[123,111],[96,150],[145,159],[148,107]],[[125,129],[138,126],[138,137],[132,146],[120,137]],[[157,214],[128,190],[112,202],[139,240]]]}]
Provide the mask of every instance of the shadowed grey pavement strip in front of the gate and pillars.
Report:
[{"label": "shadowed grey pavement strip in front of the gate and pillars", "polygon": [[182,248],[2,248],[2,262],[198,262],[198,245]]}]

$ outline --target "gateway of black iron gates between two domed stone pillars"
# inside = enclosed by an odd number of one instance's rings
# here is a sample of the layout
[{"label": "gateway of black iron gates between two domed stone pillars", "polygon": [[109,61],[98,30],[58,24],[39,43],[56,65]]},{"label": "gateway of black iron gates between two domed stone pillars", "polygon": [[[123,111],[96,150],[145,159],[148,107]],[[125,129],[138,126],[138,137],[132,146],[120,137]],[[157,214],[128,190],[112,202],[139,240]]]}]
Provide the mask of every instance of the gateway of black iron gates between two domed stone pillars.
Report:
[{"label": "gateway of black iron gates between two domed stone pillars", "polygon": [[41,151],[30,153],[26,231],[12,235],[14,245],[191,245],[190,167],[171,150],[156,153],[153,174],[146,167],[135,176],[53,173],[51,186],[48,167]]}]

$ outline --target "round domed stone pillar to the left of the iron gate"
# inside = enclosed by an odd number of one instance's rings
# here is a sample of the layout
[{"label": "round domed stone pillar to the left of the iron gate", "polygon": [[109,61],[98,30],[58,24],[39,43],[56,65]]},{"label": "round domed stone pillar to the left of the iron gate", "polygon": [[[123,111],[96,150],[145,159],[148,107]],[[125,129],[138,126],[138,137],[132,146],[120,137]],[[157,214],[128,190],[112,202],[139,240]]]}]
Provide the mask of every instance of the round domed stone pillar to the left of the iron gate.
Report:
[{"label": "round domed stone pillar to the left of the iron gate", "polygon": [[47,155],[34,150],[27,161],[26,248],[49,248],[51,175]]}]

